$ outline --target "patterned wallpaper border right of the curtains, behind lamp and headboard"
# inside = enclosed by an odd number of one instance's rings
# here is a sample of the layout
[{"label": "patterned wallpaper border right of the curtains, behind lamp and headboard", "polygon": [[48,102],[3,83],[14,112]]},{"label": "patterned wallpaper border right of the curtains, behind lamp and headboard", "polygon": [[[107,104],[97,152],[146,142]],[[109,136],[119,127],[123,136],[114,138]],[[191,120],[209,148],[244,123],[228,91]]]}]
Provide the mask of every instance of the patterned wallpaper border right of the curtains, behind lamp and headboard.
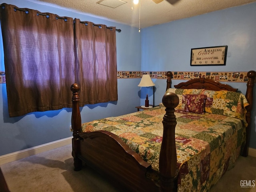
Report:
[{"label": "patterned wallpaper border right of the curtains, behind lamp and headboard", "polygon": [[[118,71],[117,78],[141,78],[143,74],[150,74],[153,79],[166,79],[166,71]],[[247,82],[247,72],[183,72],[172,71],[174,80],[190,80],[194,78],[208,78],[220,82]]]}]

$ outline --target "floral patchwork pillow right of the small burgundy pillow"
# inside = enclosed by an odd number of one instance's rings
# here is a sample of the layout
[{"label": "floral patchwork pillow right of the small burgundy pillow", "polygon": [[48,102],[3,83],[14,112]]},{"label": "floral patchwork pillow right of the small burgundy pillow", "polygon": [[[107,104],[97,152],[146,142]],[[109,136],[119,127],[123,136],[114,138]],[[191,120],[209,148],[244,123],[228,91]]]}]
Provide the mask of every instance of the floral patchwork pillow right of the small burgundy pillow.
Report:
[{"label": "floral patchwork pillow right of the small burgundy pillow", "polygon": [[248,125],[245,120],[245,107],[249,103],[244,94],[225,90],[204,90],[202,94],[207,96],[205,112],[238,118],[244,122],[245,126]]}]

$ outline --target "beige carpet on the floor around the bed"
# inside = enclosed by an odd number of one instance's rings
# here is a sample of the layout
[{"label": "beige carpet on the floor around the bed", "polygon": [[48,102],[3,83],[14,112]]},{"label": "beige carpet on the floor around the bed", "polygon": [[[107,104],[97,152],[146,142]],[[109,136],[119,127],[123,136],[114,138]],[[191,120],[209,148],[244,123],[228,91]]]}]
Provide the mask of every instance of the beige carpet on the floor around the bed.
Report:
[{"label": "beige carpet on the floor around the bed", "polygon": [[[71,145],[1,166],[11,192],[119,192],[90,168],[73,171]],[[256,158],[239,157],[210,192],[256,192],[240,180],[256,180]],[[255,183],[256,184],[256,183]]]}]

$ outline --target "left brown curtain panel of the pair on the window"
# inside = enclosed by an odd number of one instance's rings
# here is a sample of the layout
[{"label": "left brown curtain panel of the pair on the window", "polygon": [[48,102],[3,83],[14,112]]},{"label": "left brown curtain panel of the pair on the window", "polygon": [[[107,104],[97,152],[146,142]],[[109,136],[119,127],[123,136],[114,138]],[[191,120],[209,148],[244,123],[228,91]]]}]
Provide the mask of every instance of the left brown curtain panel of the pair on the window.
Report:
[{"label": "left brown curtain panel of the pair on the window", "polygon": [[71,107],[73,19],[1,4],[10,117]]}]

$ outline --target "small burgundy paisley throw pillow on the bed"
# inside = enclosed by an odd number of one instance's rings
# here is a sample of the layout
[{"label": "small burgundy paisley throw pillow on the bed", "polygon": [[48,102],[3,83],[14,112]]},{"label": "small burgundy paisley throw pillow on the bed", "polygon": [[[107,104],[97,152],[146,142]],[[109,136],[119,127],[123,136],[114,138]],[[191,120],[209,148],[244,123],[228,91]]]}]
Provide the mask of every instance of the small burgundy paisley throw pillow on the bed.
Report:
[{"label": "small burgundy paisley throw pillow on the bed", "polygon": [[186,100],[186,112],[204,114],[204,103],[207,98],[206,95],[186,94],[184,97]]}]

